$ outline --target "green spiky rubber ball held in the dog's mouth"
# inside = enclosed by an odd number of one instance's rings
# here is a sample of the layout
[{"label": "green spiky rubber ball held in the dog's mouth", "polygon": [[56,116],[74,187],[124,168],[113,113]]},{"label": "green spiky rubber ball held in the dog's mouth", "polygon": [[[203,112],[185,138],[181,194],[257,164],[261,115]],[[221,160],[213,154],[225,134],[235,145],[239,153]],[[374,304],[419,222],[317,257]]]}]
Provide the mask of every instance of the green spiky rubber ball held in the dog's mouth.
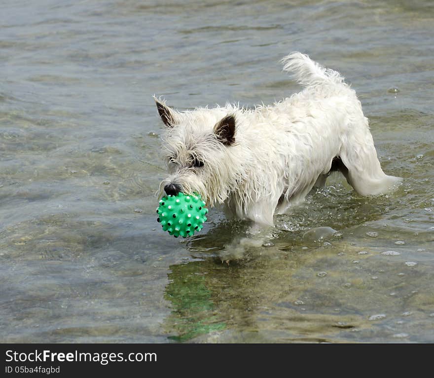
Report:
[{"label": "green spiky rubber ball held in the dog's mouth", "polygon": [[207,220],[208,209],[199,194],[168,195],[160,199],[157,222],[175,237],[193,236]]}]

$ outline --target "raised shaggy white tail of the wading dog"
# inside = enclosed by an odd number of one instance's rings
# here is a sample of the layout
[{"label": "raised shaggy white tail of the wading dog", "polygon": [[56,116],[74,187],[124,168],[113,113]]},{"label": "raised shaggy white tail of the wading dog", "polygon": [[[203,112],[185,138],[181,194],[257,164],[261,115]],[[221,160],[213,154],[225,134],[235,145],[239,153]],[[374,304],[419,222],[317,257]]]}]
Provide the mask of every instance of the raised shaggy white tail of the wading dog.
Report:
[{"label": "raised shaggy white tail of the wading dog", "polygon": [[324,84],[344,84],[344,78],[336,71],[330,70],[314,62],[301,52],[291,52],[283,58],[284,71],[302,86],[315,86]]}]

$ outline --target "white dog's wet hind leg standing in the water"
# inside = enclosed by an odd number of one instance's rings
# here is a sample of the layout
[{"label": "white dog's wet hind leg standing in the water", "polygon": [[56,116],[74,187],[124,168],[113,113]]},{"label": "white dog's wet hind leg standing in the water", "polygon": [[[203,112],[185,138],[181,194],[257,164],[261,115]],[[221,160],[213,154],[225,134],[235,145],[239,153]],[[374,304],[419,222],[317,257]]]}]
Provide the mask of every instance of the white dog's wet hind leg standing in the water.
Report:
[{"label": "white dog's wet hind leg standing in the water", "polygon": [[386,175],[381,169],[365,117],[362,125],[350,127],[350,133],[343,136],[339,157],[343,164],[339,170],[348,183],[362,195],[385,193],[402,180]]}]

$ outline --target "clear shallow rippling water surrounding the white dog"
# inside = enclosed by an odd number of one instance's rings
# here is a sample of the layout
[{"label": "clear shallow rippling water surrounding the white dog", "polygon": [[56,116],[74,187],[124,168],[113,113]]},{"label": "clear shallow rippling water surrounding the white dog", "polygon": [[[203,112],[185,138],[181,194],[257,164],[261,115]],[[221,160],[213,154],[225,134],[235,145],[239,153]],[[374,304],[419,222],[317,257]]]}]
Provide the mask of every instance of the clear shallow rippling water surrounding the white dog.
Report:
[{"label": "clear shallow rippling water surrounding the white dog", "polygon": [[[6,1],[0,341],[433,342],[433,21],[422,0]],[[404,184],[364,198],[334,176],[222,263],[243,222],[212,210],[179,240],[155,221],[151,95],[271,103],[299,89],[293,50],[346,76]]]}]

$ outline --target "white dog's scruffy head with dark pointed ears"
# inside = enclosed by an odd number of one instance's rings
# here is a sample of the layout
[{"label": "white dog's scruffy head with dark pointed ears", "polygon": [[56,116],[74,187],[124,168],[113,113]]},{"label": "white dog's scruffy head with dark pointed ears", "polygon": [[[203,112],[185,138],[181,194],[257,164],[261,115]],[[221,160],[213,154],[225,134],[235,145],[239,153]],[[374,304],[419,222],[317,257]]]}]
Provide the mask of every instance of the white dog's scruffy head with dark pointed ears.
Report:
[{"label": "white dog's scruffy head with dark pointed ears", "polygon": [[[165,125],[163,146],[169,176],[158,196],[178,192],[201,194],[210,205],[222,203],[237,182],[236,116],[227,108],[178,112],[154,97]],[[235,108],[234,108],[235,109]]]}]

